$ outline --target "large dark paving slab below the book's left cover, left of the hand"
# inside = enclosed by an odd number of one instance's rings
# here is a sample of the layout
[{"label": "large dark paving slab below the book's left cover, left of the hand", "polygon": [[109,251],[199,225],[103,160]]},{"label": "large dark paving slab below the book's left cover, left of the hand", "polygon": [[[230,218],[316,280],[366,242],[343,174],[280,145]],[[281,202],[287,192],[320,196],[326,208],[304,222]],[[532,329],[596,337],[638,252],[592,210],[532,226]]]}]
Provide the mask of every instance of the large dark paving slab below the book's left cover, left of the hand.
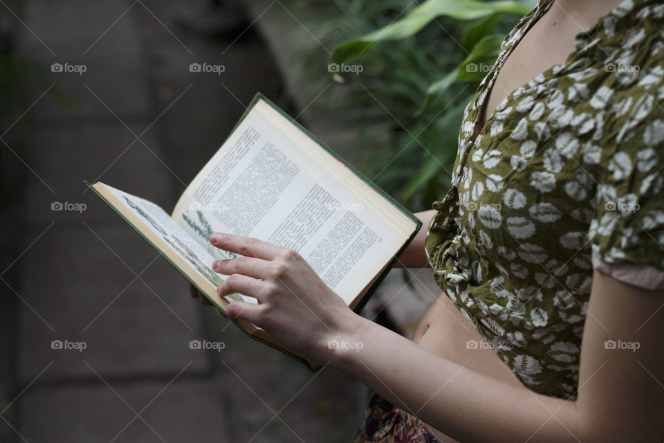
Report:
[{"label": "large dark paving slab below the book's left cover, left of the hand", "polygon": [[189,361],[187,372],[207,371],[190,349],[202,329],[181,275],[130,228],[92,228],[53,226],[17,264],[21,381],[50,361],[42,379],[87,378],[86,362],[103,376],[177,373]]}]

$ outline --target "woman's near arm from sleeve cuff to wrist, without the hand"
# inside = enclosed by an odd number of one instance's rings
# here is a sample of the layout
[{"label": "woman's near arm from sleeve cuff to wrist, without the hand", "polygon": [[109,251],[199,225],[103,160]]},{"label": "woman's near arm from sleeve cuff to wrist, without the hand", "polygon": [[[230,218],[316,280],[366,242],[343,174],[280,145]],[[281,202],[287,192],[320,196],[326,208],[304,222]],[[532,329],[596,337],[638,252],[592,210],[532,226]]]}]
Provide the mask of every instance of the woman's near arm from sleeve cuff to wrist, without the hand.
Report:
[{"label": "woman's near arm from sleeve cuff to wrist, without the hand", "polygon": [[[362,350],[328,358],[461,442],[661,442],[664,313],[652,314],[662,295],[595,273],[575,402],[481,376],[365,319],[351,320],[345,333]],[[606,349],[607,340],[638,350]]]}]

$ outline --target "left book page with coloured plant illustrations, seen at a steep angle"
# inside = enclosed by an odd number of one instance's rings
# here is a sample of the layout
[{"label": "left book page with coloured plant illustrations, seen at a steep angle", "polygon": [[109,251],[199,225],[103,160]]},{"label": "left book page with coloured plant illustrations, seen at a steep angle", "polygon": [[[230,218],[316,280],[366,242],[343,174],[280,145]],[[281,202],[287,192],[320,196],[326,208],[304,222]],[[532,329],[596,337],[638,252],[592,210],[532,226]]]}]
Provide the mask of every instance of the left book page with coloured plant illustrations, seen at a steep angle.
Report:
[{"label": "left book page with coloured plant illustrations, seen at a steep angle", "polygon": [[[165,210],[151,201],[127,194],[127,192],[108,185],[104,186],[122,205],[131,210],[152,233],[163,239],[192,271],[199,273],[213,289],[216,289],[223,282],[224,278],[228,277],[228,275],[218,274],[210,268],[212,262],[215,260],[214,257],[208,251],[205,251],[205,248],[198,242],[192,239],[181,226],[176,224]],[[257,302],[255,298],[244,297],[240,294],[231,294],[225,298],[228,301],[245,300],[248,302]]]}]

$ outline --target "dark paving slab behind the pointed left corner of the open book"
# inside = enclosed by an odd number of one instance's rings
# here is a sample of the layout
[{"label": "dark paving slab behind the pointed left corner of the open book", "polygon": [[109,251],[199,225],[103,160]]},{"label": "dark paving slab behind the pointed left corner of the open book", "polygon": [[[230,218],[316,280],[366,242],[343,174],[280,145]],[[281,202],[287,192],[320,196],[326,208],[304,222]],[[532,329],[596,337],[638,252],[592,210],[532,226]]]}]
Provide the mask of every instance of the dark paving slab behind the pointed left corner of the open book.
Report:
[{"label": "dark paving slab behind the pointed left corner of the open book", "polygon": [[[148,125],[144,120],[130,128],[138,135]],[[119,123],[63,125],[35,131],[25,156],[35,174],[26,183],[23,218],[33,230],[43,226],[44,221],[77,225],[84,221],[97,226],[124,224],[93,192],[86,190],[84,180],[103,181],[154,201],[170,212],[176,190],[184,187],[169,171],[172,162],[161,154],[156,130],[147,132],[140,140],[136,141]],[[52,210],[55,201],[86,207]]]}]

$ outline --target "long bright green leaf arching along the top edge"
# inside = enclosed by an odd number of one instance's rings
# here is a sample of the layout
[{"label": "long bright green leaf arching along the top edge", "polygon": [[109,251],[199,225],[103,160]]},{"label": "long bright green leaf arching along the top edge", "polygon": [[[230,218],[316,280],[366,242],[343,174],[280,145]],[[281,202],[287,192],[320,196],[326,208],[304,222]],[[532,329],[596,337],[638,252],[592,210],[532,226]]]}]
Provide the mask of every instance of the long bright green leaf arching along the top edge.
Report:
[{"label": "long bright green leaf arching along the top edge", "polygon": [[374,46],[376,42],[410,37],[427,26],[436,17],[446,16],[458,20],[475,20],[497,13],[525,15],[533,0],[427,0],[402,19],[337,46],[331,62],[346,63]]}]

